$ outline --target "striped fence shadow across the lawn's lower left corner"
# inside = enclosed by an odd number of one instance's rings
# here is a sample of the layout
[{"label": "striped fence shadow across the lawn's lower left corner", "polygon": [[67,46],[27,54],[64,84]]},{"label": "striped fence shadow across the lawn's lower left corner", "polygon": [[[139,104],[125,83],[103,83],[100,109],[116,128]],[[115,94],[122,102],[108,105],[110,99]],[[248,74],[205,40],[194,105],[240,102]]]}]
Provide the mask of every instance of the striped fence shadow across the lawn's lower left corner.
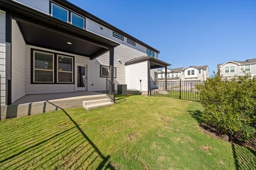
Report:
[{"label": "striped fence shadow across the lawn's lower left corner", "polygon": [[38,115],[38,124],[13,123],[10,129],[15,131],[1,131],[1,169],[115,169],[110,156],[104,156],[65,109],[58,108],[64,114]]}]

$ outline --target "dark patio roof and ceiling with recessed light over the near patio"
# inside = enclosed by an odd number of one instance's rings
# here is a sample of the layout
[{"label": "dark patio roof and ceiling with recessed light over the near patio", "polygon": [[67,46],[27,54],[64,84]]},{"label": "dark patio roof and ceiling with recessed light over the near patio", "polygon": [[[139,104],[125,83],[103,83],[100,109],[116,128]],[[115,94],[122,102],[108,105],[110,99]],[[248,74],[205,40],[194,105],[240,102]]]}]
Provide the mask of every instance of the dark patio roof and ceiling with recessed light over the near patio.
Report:
[{"label": "dark patio roof and ceiling with recessed light over the near patio", "polygon": [[0,0],[0,5],[9,10],[11,8],[12,19],[17,21],[28,45],[82,55],[90,57],[91,60],[119,45],[115,41],[77,28],[14,1]]}]

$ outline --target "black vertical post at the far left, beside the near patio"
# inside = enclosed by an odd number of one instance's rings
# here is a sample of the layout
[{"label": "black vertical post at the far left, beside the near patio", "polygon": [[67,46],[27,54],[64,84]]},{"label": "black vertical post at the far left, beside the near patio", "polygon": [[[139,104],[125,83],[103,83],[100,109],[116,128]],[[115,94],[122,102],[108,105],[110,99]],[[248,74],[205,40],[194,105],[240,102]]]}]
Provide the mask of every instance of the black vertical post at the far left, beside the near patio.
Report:
[{"label": "black vertical post at the far left, beside the near patio", "polygon": [[12,16],[5,13],[5,103],[12,104]]}]

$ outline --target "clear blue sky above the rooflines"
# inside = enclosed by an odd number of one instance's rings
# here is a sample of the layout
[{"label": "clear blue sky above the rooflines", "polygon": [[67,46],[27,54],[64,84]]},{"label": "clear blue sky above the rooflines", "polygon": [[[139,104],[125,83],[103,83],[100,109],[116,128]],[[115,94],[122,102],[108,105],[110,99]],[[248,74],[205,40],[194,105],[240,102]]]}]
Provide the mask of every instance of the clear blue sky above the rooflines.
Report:
[{"label": "clear blue sky above the rooflines", "polygon": [[256,0],[69,0],[161,51],[171,67],[256,58]]}]

